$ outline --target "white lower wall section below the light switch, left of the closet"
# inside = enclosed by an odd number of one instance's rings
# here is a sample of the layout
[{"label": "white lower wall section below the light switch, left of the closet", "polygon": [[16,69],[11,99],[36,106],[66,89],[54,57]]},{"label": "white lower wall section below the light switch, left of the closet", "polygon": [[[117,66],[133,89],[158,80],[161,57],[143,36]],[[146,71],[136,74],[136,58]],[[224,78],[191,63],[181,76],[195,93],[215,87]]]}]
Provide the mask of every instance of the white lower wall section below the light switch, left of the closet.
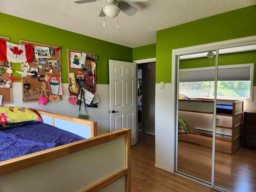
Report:
[{"label": "white lower wall section below the light switch, left of the closet", "polygon": [[156,108],[155,108],[155,135],[156,135],[156,164],[158,168],[174,172],[175,158],[175,129],[174,129],[174,104],[172,83],[165,83],[164,89],[156,83]]}]

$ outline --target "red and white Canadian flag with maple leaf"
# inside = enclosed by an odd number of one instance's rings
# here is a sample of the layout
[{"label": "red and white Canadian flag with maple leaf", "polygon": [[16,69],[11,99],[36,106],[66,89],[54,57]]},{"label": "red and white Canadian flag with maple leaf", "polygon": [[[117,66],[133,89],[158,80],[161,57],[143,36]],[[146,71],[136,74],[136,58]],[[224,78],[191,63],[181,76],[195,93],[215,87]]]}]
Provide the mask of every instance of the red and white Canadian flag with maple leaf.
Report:
[{"label": "red and white Canadian flag with maple leaf", "polygon": [[0,39],[0,60],[8,62],[32,62],[33,45],[16,45]]}]

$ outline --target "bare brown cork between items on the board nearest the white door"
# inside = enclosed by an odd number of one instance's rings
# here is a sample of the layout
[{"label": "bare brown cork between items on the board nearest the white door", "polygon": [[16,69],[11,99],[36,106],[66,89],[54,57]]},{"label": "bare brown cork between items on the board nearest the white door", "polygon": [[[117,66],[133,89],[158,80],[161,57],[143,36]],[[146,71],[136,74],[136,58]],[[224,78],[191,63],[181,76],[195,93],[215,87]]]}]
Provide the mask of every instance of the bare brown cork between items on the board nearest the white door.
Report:
[{"label": "bare brown cork between items on the board nearest the white door", "polygon": [[[80,54],[84,53],[87,55],[85,65],[81,65],[82,69],[72,68],[72,63],[71,63],[71,60],[73,61],[73,58],[71,58],[72,52],[80,53]],[[97,57],[96,57],[95,53],[88,53],[88,52],[84,52],[84,51],[68,49],[67,55],[68,55],[68,73],[69,74],[74,73],[75,76],[77,77],[78,72],[82,72],[82,75],[84,77],[86,77],[86,75],[92,75],[92,74],[96,76],[96,68],[93,69],[93,67],[92,67],[93,63],[95,63],[95,65],[96,65]],[[96,76],[96,79],[97,79],[97,76]],[[71,78],[70,77],[69,77],[69,85],[71,86]],[[86,80],[84,80],[83,88],[88,91],[91,91],[92,93],[96,93],[96,80],[95,80],[94,86],[89,86],[88,82]],[[70,96],[72,96],[72,95],[77,96],[76,94],[70,92]],[[97,104],[91,104],[90,106],[89,105],[87,105],[87,106],[97,108]]]}]

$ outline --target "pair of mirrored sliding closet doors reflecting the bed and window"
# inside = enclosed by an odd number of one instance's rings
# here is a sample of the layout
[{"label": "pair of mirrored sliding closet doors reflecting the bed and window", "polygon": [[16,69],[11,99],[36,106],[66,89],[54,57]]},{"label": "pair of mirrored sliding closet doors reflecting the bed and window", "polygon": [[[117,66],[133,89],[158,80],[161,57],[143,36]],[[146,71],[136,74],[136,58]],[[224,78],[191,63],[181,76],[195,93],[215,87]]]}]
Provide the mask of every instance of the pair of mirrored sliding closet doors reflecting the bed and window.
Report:
[{"label": "pair of mirrored sliding closet doors reflecting the bed and window", "polygon": [[176,172],[223,191],[256,191],[256,44],[241,45],[177,56]]}]

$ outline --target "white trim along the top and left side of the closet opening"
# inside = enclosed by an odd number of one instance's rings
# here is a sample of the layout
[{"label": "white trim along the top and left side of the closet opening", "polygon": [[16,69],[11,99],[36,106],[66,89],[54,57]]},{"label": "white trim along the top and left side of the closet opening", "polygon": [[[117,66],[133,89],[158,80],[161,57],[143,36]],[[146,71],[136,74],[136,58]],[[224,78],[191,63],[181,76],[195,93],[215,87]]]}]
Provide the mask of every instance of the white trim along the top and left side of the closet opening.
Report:
[{"label": "white trim along the top and left side of the closet opening", "polygon": [[[170,105],[170,108],[172,111],[176,111],[176,104],[175,101],[177,99],[176,96],[176,84],[177,84],[177,79],[176,79],[176,74],[177,74],[177,63],[176,63],[176,56],[177,55],[186,55],[186,54],[193,54],[193,53],[199,53],[199,52],[205,52],[205,51],[212,51],[212,50],[218,50],[218,49],[223,49],[223,48],[230,48],[230,47],[239,47],[239,46],[246,46],[246,45],[252,45],[256,44],[256,35],[254,36],[249,36],[249,37],[243,37],[243,38],[237,38],[237,39],[230,39],[230,40],[224,40],[224,41],[219,41],[219,42],[212,42],[210,44],[204,44],[204,45],[199,45],[199,46],[191,46],[191,47],[186,47],[186,48],[181,48],[181,49],[174,49],[172,51],[172,97],[174,98],[173,103]],[[252,98],[252,97],[251,97]],[[176,130],[176,117],[175,115],[173,117],[170,117],[171,121],[173,121],[173,127],[174,131]],[[176,137],[176,133],[175,133]],[[176,156],[176,141],[174,138],[170,138],[174,142],[174,157]],[[175,160],[173,161],[173,167],[176,166]],[[172,170],[174,172],[174,170]]]}]

